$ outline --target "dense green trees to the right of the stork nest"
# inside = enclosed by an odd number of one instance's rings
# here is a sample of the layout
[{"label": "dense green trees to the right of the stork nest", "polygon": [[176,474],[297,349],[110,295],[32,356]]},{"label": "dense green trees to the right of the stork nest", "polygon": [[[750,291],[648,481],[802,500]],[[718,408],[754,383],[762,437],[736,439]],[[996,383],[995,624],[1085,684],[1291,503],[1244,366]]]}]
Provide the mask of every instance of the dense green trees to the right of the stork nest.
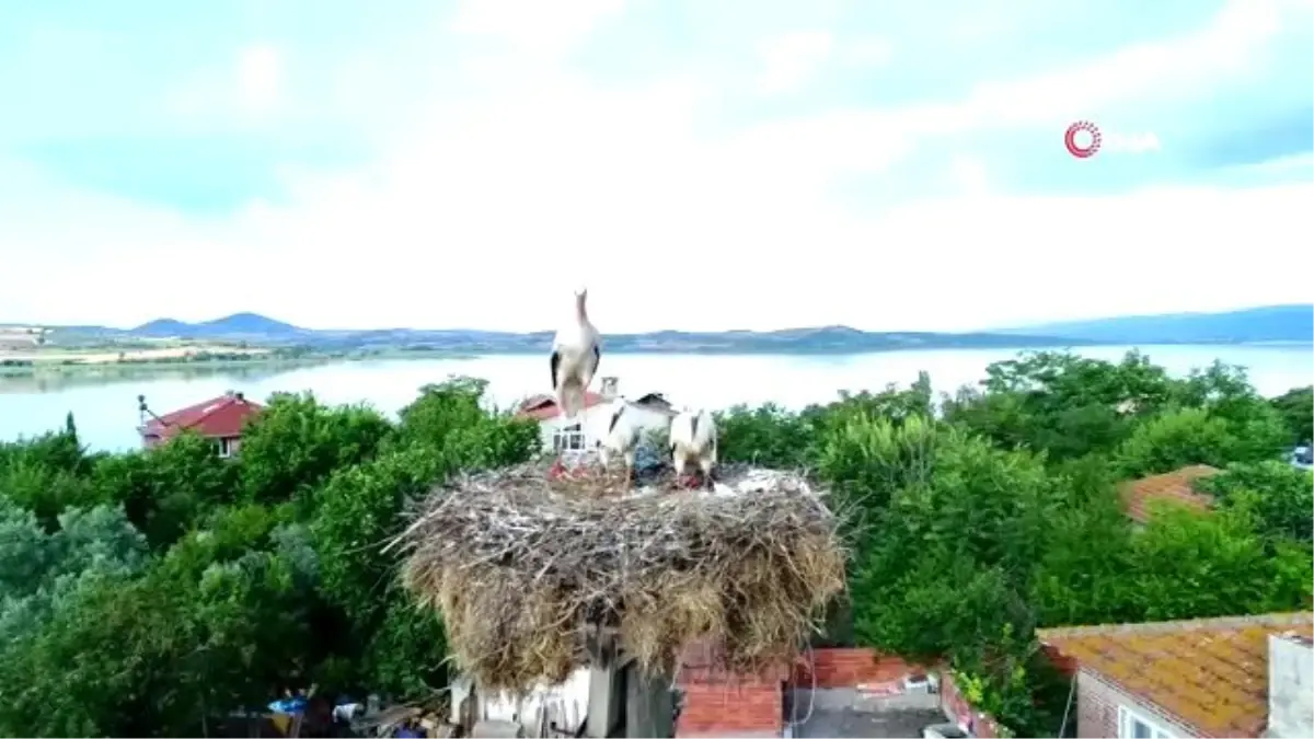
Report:
[{"label": "dense green trees to the right of the stork nest", "polygon": [[[947,659],[978,707],[1053,736],[1067,698],[1037,627],[1307,608],[1314,476],[1282,458],[1311,389],[1268,401],[1242,370],[1169,377],[1139,354],[1024,354],[934,404],[909,389],[800,413],[736,408],[723,456],[804,465],[851,521],[858,644]],[[938,406],[938,408],[937,408]],[[1217,510],[1156,510],[1137,530],[1120,483],[1188,464]]]}]

